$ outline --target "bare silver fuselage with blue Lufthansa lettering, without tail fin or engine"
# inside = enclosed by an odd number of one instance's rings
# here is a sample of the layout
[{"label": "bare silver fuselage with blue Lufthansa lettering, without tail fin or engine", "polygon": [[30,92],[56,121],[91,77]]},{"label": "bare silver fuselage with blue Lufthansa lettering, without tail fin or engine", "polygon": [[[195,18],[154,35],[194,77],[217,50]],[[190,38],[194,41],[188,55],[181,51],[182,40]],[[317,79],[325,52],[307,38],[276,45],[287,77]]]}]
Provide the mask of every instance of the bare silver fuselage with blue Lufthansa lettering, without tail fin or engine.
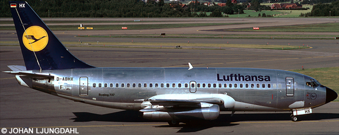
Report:
[{"label": "bare silver fuselage with blue Lufthansa lettering, without tail fin or engine", "polygon": [[[117,109],[140,110],[156,95],[226,94],[233,108],[221,111],[290,111],[325,104],[326,89],[315,79],[288,71],[245,68],[89,68],[32,71],[54,76],[27,87],[78,102]],[[17,76],[26,80],[25,76]],[[319,85],[312,87],[307,82]],[[23,82],[23,81],[21,81]],[[27,81],[26,81],[27,82]],[[94,86],[95,85],[95,86]],[[157,85],[157,87],[156,87]],[[181,86],[180,86],[181,85]]]}]

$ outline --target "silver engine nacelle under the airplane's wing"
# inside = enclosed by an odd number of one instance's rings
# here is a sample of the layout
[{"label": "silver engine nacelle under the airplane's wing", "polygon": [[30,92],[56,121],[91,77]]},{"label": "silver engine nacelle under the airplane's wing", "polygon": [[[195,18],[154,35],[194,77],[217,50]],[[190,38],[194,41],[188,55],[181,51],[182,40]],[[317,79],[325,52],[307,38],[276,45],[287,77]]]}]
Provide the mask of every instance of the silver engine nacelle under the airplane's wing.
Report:
[{"label": "silver engine nacelle under the airplane's wing", "polygon": [[211,107],[196,108],[192,110],[144,112],[143,118],[155,120],[214,120],[218,118],[219,112],[219,105],[212,105]]}]

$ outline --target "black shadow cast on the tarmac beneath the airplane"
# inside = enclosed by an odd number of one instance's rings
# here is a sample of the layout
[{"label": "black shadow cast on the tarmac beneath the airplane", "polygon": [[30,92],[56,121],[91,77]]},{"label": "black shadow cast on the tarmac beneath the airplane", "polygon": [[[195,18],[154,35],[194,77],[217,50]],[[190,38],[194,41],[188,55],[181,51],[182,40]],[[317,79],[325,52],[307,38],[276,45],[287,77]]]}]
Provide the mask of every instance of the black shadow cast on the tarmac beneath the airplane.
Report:
[{"label": "black shadow cast on the tarmac beneath the airplane", "polygon": [[[164,122],[161,120],[149,120],[140,117],[142,115],[139,111],[119,111],[108,114],[95,114],[89,112],[73,112],[76,116],[74,122],[89,122],[89,121],[111,121],[111,122]],[[241,123],[233,123],[240,121],[279,121],[290,120],[290,113],[257,113],[257,114],[221,114],[218,119],[211,121],[192,121],[186,124],[180,124],[178,132],[196,132],[211,127],[234,126]],[[299,120],[321,120],[339,118],[339,113],[312,113],[308,115],[298,116]],[[170,125],[160,125],[155,127],[171,127]]]}]

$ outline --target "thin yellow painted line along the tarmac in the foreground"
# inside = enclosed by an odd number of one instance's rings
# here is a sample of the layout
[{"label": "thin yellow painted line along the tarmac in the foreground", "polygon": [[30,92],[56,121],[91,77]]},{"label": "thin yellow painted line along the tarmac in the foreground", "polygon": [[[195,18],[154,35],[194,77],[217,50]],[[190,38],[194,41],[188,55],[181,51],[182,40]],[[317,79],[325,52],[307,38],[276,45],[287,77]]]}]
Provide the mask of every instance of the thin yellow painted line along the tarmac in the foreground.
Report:
[{"label": "thin yellow painted line along the tarmac in the foreground", "polygon": [[[302,122],[338,122],[339,120],[321,120],[321,121],[258,121],[258,122],[230,122],[235,124],[241,123],[302,123]],[[128,125],[75,125],[75,126],[36,126],[36,127],[0,127],[0,128],[62,128],[62,127],[107,127],[107,126],[146,126],[146,125],[168,125],[166,124],[128,124]]]}]

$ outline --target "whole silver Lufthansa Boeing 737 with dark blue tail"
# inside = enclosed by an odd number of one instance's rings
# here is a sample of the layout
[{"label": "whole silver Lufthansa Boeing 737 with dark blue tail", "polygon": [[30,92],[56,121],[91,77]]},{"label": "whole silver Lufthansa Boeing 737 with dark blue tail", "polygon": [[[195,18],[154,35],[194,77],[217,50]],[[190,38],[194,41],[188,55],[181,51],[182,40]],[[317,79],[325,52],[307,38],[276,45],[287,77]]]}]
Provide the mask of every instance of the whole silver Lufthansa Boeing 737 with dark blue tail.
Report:
[{"label": "whole silver Lufthansa Boeing 737 with dark blue tail", "polygon": [[[171,126],[215,120],[220,111],[310,114],[337,94],[309,76],[251,68],[95,67],[60,42],[26,2],[9,2],[25,66],[9,65],[20,85],[76,102],[124,110]],[[38,37],[39,39],[35,39]],[[31,37],[31,38],[28,38]],[[42,37],[42,38],[41,38]]]}]

